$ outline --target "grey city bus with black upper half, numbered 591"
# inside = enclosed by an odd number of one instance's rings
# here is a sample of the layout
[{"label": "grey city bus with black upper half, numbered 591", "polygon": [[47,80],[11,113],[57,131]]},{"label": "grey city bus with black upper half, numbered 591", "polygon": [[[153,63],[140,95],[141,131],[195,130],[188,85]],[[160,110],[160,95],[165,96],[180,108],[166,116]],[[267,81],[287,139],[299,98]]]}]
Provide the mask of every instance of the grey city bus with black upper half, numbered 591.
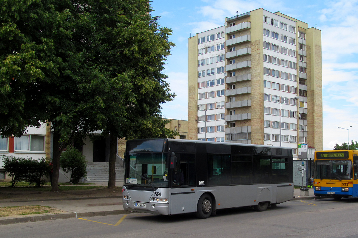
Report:
[{"label": "grey city bus with black upper half, numbered 591", "polygon": [[123,207],[163,215],[269,205],[293,197],[292,149],[225,142],[140,139],[126,144]]}]

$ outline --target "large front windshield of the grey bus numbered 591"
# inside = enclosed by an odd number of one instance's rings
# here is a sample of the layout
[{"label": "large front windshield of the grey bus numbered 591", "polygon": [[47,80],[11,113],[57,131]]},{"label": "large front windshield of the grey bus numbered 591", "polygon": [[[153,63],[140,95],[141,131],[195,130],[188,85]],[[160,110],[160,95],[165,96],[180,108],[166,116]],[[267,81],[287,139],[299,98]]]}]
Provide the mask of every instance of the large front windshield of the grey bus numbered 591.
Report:
[{"label": "large front windshield of the grey bus numbered 591", "polygon": [[[126,165],[126,185],[131,187],[168,187],[168,155],[166,153],[129,153]],[[128,160],[127,160],[128,161]]]}]

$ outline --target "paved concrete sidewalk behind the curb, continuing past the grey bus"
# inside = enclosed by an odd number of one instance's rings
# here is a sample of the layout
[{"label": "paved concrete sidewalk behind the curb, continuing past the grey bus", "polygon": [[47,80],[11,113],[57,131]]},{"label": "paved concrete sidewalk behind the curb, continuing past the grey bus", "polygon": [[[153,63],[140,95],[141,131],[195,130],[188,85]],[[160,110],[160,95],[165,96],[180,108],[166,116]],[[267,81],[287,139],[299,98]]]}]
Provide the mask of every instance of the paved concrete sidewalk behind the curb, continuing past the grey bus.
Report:
[{"label": "paved concrete sidewalk behind the curb, continuing past the grey bus", "polygon": [[[116,184],[117,185],[117,184]],[[118,184],[121,186],[121,184]],[[308,196],[301,196],[299,188],[294,189],[294,200],[308,200],[316,199],[313,194],[313,188],[309,188]],[[326,198],[326,197],[325,197]],[[93,217],[93,216],[107,216],[116,214],[130,213],[123,210],[122,196],[101,197],[101,198],[79,198],[79,199],[62,199],[62,200],[47,200],[47,201],[17,201],[17,202],[1,202],[1,207],[13,206],[27,206],[27,205],[40,205],[49,206],[66,211],[59,214],[39,214],[24,217],[0,217],[0,225],[22,223],[22,222],[35,222],[63,218],[80,218],[80,217]]]}]

